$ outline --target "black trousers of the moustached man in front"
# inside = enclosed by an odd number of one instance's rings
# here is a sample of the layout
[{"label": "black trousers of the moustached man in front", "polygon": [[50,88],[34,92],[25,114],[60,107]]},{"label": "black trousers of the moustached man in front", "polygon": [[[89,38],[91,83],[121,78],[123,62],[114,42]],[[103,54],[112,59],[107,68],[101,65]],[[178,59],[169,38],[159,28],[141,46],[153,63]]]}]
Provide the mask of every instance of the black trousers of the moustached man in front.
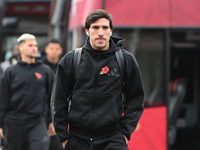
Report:
[{"label": "black trousers of the moustached man in front", "polygon": [[127,150],[127,145],[123,134],[118,132],[115,135],[95,141],[71,136],[65,150]]}]

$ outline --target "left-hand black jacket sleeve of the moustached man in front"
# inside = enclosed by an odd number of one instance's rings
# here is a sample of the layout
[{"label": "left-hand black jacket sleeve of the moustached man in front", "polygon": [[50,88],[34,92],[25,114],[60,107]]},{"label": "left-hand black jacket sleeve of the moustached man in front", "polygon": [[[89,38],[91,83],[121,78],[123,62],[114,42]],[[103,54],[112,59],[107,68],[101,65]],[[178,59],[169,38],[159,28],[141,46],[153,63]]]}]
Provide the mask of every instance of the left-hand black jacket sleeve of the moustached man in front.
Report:
[{"label": "left-hand black jacket sleeve of the moustached man in front", "polygon": [[[70,61],[71,60],[71,61]],[[69,139],[68,128],[68,97],[72,91],[70,68],[72,59],[66,55],[58,64],[52,90],[51,111],[57,137],[60,142]]]}]

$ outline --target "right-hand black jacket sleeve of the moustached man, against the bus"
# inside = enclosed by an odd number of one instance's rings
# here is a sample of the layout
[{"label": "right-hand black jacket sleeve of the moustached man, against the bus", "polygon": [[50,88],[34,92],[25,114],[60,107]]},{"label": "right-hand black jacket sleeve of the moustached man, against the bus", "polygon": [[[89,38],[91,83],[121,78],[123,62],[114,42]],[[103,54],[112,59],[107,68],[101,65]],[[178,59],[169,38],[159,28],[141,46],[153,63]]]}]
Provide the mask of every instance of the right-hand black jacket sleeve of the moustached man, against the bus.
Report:
[{"label": "right-hand black jacket sleeve of the moustached man, against the bus", "polygon": [[120,127],[122,133],[130,140],[144,109],[144,91],[138,64],[134,58],[126,59],[124,116]]}]

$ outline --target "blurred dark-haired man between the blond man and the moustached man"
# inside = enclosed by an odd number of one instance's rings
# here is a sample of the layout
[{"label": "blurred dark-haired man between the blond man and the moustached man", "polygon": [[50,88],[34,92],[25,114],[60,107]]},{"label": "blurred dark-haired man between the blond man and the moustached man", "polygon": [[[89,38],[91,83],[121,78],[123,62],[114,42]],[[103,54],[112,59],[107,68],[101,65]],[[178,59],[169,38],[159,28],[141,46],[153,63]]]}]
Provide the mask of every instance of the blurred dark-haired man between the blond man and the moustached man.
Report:
[{"label": "blurred dark-haired man between the blond man and the moustached man", "polygon": [[[58,40],[52,39],[47,43],[45,47],[46,56],[43,57],[44,64],[48,65],[54,73],[56,73],[57,64],[62,54],[62,47]],[[62,150],[62,145],[56,137],[56,133],[53,127],[53,123],[50,123],[48,134],[50,136],[49,150]]]}]

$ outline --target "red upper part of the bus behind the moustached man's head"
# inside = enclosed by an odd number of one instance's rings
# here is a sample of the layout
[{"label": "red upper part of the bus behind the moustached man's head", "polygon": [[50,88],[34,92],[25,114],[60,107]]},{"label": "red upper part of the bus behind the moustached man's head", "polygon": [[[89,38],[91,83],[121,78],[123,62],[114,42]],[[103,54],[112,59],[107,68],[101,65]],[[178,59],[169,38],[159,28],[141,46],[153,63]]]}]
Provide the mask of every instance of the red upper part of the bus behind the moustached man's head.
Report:
[{"label": "red upper part of the bus behind the moustached man's head", "polygon": [[[103,0],[72,2],[69,29],[82,26],[89,12],[102,8]],[[200,0],[105,0],[114,26],[200,26]]]}]

